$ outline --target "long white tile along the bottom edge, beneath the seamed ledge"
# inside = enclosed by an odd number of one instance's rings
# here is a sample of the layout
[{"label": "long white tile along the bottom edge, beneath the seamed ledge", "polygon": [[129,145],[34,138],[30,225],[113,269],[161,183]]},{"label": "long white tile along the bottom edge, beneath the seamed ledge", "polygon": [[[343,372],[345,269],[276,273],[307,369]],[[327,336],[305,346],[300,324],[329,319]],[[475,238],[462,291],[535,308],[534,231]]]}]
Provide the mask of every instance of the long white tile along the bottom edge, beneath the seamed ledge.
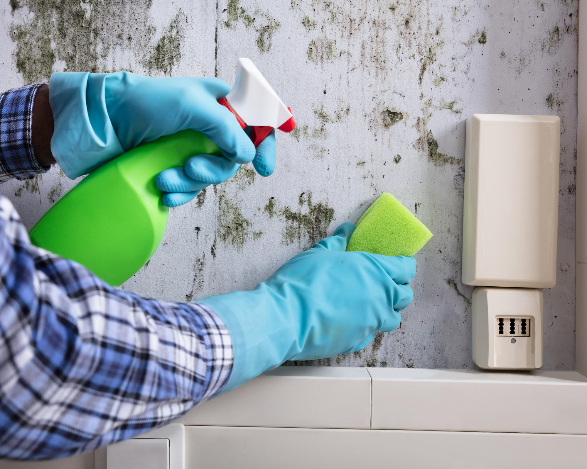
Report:
[{"label": "long white tile along the bottom edge, beneath the seamed ledge", "polygon": [[460,431],[185,427],[186,469],[584,468],[587,437]]}]

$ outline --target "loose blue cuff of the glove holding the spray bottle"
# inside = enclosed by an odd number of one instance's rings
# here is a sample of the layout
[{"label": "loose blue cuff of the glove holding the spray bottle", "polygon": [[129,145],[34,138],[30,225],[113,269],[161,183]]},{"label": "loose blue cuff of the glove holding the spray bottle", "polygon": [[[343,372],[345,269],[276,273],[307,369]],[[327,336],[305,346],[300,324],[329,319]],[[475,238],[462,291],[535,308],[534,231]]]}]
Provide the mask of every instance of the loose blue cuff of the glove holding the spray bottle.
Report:
[{"label": "loose blue cuff of the glove holding the spray bottle", "polygon": [[70,179],[124,152],[106,109],[106,73],[56,72],[49,80],[55,130],[51,151]]}]

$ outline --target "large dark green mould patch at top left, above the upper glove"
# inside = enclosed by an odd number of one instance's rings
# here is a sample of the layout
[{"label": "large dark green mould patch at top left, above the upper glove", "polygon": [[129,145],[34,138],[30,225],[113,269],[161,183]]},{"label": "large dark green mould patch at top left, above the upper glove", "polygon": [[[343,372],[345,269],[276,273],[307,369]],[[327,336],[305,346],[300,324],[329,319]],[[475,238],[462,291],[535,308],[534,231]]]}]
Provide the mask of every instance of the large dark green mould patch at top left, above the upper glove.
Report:
[{"label": "large dark green mould patch at top left, above the upper glove", "polygon": [[150,8],[143,0],[14,0],[16,67],[26,84],[48,80],[57,62],[68,72],[127,68],[113,52],[126,50],[137,60],[150,55],[156,32]]}]

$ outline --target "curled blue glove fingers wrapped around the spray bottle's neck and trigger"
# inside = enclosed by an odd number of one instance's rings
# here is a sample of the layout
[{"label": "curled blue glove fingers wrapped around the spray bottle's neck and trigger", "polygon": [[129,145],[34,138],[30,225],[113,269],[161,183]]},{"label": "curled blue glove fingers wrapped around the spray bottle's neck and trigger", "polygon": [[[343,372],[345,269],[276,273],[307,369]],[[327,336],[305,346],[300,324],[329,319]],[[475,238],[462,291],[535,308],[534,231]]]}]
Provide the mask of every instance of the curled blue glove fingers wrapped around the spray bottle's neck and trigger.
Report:
[{"label": "curled blue glove fingers wrapped around the spray bottle's neck and trigger", "polygon": [[[247,135],[251,127],[245,128]],[[275,169],[275,129],[257,147],[253,166],[261,176],[269,176]],[[168,207],[177,207],[190,202],[202,189],[210,184],[220,184],[232,178],[241,165],[215,155],[195,155],[185,162],[183,168],[161,171],[155,179],[157,188],[163,191],[161,202]]]}]

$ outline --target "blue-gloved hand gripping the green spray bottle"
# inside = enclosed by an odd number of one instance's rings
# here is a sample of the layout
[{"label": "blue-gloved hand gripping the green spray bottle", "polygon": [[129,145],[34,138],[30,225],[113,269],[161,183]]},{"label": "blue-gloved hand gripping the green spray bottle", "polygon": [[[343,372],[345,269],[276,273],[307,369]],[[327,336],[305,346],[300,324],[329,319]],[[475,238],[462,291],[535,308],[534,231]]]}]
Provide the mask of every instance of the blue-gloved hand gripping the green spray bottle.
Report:
[{"label": "blue-gloved hand gripping the green spray bottle", "polygon": [[[199,155],[204,161],[195,165],[193,174],[222,182],[234,175],[239,164],[253,161],[258,154],[234,115],[217,103],[230,89],[213,78],[53,73],[49,80],[55,121],[51,151],[63,172],[74,179],[143,142],[191,128],[215,142],[224,156]],[[275,164],[272,148],[267,145],[255,167]]]}]

